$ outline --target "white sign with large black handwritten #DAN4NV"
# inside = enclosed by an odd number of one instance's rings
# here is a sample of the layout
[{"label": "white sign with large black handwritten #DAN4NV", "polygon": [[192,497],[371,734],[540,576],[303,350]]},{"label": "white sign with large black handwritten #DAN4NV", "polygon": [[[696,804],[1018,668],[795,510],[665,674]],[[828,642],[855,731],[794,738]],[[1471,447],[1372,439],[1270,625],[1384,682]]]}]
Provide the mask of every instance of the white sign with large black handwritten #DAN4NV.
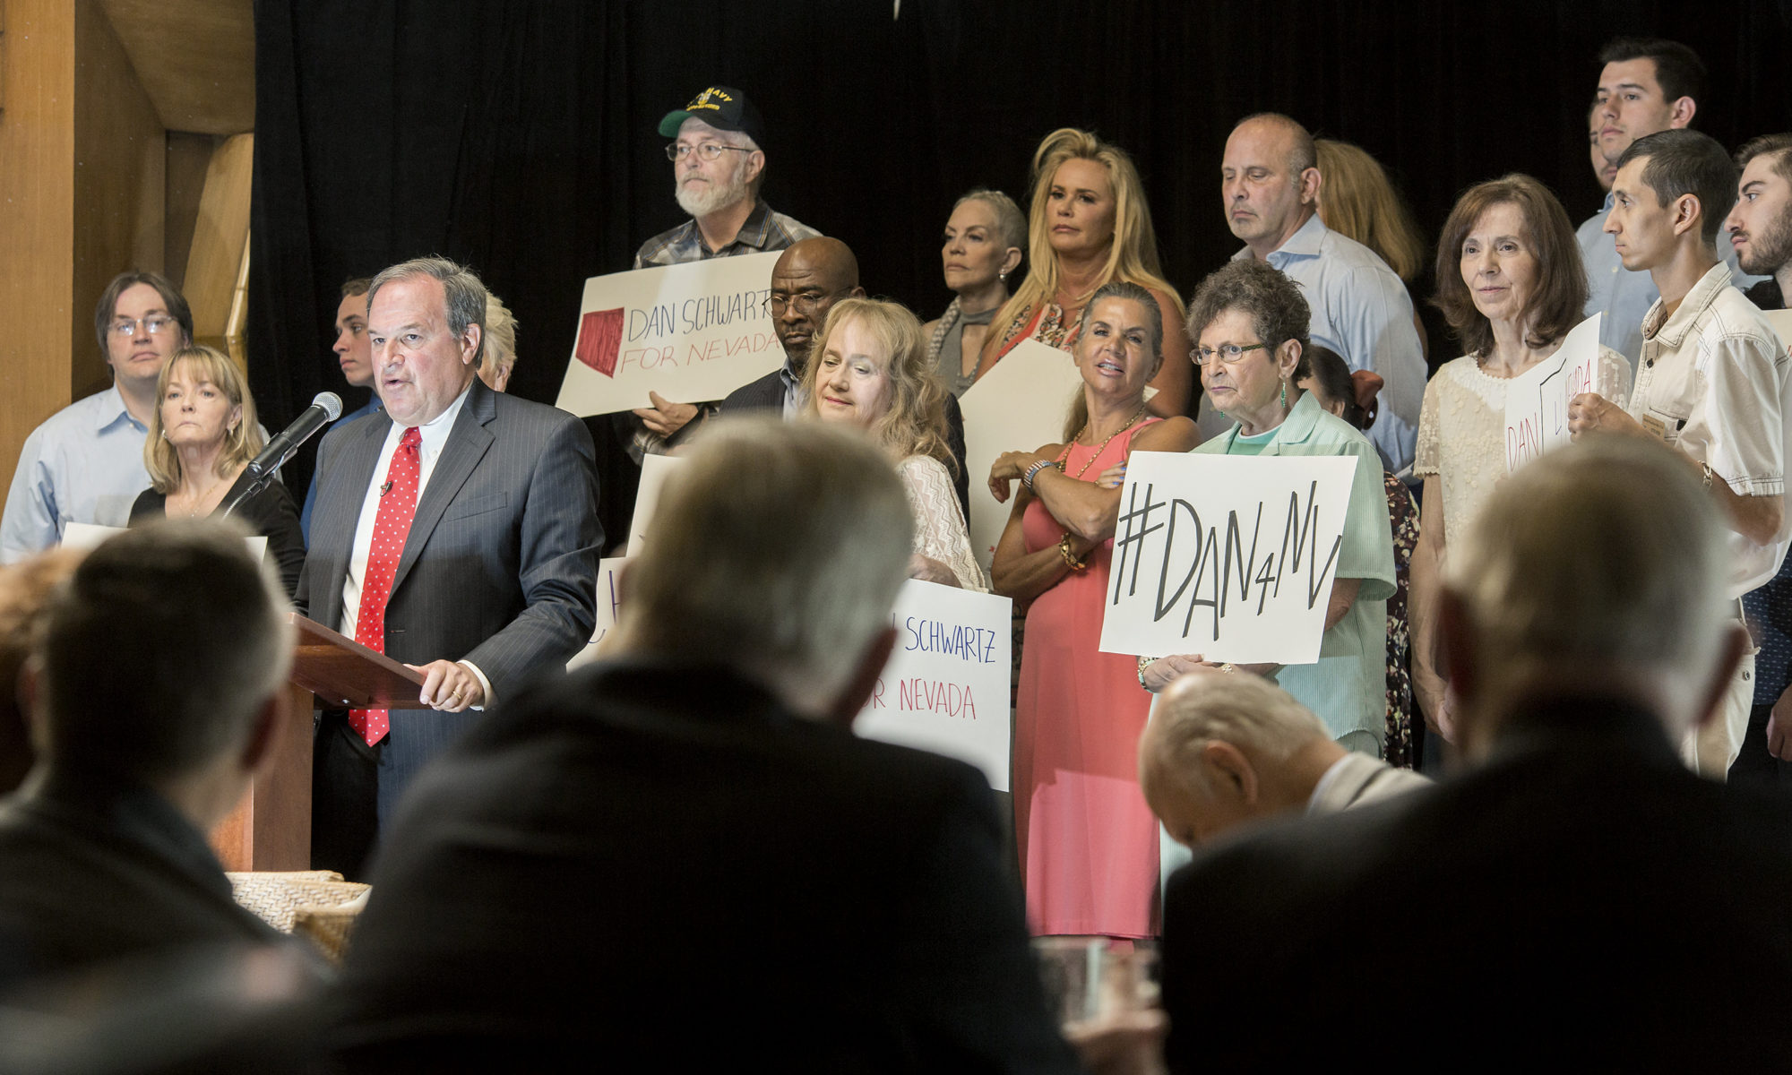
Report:
[{"label": "white sign with large black handwritten #DAN4NV", "polygon": [[1310,665],[1357,460],[1134,452],[1102,652]]}]

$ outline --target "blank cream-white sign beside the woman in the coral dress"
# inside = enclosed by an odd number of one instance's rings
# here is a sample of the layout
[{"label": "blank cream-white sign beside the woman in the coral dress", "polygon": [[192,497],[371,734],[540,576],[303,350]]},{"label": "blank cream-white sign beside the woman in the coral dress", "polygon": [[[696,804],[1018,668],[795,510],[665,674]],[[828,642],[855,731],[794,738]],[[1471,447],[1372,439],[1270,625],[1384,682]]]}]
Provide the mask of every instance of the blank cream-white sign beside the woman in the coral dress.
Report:
[{"label": "blank cream-white sign beside the woman in the coral dress", "polygon": [[1070,351],[1025,340],[1002,357],[964,396],[964,469],[971,480],[971,552],[984,573],[1014,500],[989,494],[989,468],[1004,452],[1032,452],[1064,439],[1064,416],[1082,391]]}]

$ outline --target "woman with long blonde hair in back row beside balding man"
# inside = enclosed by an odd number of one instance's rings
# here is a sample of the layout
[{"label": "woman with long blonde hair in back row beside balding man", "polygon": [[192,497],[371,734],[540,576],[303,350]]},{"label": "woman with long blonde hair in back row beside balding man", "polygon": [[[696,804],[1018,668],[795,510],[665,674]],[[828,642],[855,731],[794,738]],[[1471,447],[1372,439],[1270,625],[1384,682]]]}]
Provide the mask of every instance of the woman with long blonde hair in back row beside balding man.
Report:
[{"label": "woman with long blonde hair in back row beside balding man", "polygon": [[1133,158],[1088,131],[1061,127],[1032,154],[1032,177],[1027,278],[996,310],[978,376],[1021,340],[1072,349],[1090,297],[1107,283],[1136,283],[1159,310],[1176,312],[1163,319],[1150,412],[1185,414],[1193,369],[1183,360],[1183,301],[1158,267],[1158,233]]}]

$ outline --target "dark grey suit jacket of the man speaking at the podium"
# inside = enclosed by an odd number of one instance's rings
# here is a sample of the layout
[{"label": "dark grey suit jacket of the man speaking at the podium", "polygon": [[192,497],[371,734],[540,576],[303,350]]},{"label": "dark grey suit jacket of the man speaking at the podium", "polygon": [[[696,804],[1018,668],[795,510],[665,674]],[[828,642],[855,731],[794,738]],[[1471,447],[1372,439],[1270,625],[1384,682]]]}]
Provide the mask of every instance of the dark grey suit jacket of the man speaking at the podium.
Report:
[{"label": "dark grey suit jacket of the man speaking at the podium", "polygon": [[[317,507],[297,606],[342,624],[342,582],[362,502],[392,419],[330,430],[317,448]],[[502,704],[532,672],[591,638],[597,616],[597,477],[577,417],[493,392],[477,378],[410,523],[385,606],[385,652],[410,665],[471,661]],[[478,715],[392,710],[380,797]]]}]

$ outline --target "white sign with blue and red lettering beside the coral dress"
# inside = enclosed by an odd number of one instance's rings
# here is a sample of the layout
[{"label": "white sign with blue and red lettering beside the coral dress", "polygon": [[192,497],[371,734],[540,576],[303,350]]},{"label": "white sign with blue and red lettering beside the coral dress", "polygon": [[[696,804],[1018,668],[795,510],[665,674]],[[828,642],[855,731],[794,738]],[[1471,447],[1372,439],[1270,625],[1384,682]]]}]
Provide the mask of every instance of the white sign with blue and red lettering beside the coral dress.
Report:
[{"label": "white sign with blue and red lettering beside the coral dress", "polygon": [[984,770],[1009,790],[1012,602],[910,579],[896,595],[896,649],[853,731]]}]

